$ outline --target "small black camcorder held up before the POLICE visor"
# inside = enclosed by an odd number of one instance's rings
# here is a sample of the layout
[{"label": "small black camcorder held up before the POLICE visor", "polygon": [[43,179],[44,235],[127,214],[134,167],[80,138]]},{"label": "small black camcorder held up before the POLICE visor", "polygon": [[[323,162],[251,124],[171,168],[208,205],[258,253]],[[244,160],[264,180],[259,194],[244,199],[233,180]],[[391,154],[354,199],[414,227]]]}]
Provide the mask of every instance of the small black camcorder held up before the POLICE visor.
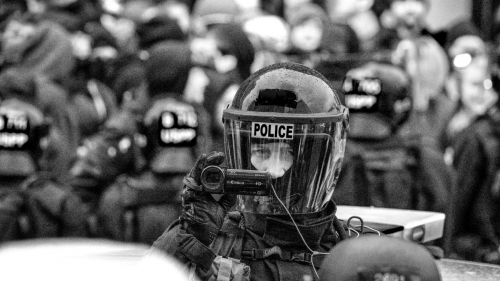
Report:
[{"label": "small black camcorder held up before the POLICE visor", "polygon": [[271,175],[254,170],[226,169],[208,166],[201,172],[203,190],[213,194],[267,196]]}]

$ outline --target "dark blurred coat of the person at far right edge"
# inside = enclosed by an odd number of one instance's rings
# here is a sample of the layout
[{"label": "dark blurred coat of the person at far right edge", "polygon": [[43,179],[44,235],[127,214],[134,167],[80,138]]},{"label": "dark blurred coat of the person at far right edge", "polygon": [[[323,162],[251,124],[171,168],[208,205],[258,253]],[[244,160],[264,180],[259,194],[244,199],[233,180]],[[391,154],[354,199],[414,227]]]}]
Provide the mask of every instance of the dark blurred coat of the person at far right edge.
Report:
[{"label": "dark blurred coat of the person at far right edge", "polygon": [[453,166],[456,185],[447,217],[447,250],[454,251],[457,239],[474,236],[482,246],[500,245],[497,172],[500,158],[500,112],[490,112],[457,136]]}]

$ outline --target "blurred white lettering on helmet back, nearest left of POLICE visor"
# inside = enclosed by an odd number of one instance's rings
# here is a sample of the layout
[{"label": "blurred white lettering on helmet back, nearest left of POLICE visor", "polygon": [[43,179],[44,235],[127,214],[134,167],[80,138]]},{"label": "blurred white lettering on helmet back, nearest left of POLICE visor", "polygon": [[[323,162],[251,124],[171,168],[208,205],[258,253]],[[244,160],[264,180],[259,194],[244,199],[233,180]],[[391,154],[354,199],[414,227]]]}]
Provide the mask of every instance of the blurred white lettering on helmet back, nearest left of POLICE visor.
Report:
[{"label": "blurred white lettering on helmet back, nearest left of POLICE visor", "polygon": [[164,111],[160,115],[159,138],[165,146],[194,146],[198,136],[198,115],[194,110]]}]

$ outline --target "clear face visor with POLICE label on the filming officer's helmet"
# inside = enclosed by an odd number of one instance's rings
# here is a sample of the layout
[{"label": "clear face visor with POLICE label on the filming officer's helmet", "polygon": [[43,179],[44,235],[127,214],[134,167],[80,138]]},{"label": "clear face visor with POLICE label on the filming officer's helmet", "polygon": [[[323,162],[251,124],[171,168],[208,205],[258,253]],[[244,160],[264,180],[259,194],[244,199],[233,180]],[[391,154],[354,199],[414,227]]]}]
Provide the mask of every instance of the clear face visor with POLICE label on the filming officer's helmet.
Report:
[{"label": "clear face visor with POLICE label on the filming officer's helmet", "polygon": [[266,171],[272,178],[268,196],[238,195],[237,210],[310,213],[320,211],[331,199],[344,156],[342,122],[293,124],[230,118],[224,126],[228,168]]}]

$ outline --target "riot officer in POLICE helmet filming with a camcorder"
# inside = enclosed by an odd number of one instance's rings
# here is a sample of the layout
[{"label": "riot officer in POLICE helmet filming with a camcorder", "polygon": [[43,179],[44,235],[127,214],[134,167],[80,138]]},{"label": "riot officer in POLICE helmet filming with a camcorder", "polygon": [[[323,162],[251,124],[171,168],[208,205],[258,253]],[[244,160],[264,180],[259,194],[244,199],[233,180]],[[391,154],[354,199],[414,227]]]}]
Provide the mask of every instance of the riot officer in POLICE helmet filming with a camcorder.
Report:
[{"label": "riot officer in POLICE helmet filming with a camcorder", "polygon": [[[225,154],[197,160],[184,179],[182,215],[151,252],[173,255],[202,280],[317,278],[321,259],[346,237],[330,199],[348,110],[317,71],[279,63],[241,85],[223,121]],[[246,185],[236,194],[207,192],[203,169],[224,161],[264,172],[267,192]]]}]

